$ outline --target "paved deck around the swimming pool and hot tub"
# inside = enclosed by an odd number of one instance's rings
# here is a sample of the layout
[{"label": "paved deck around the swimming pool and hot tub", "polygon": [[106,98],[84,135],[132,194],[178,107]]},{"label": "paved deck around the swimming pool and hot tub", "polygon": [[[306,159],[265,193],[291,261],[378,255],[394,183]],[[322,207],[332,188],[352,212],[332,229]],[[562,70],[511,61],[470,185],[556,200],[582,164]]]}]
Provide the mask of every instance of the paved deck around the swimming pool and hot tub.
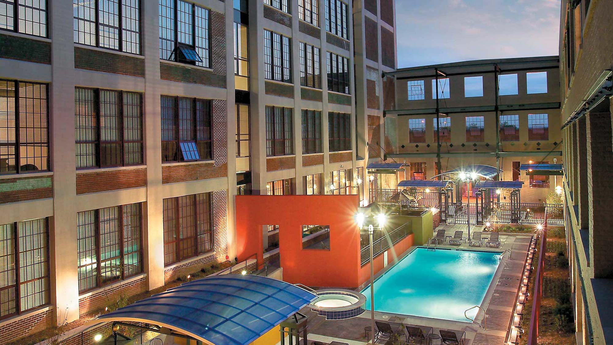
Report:
[{"label": "paved deck around the swimming pool and hot tub", "polygon": [[[467,236],[466,225],[443,225],[439,228],[446,229],[448,235],[453,235],[456,230],[463,230],[464,236]],[[481,229],[482,226],[471,227],[471,233],[473,230],[479,231]],[[484,237],[489,238],[487,235],[489,233],[484,233]],[[506,249],[511,250],[511,258],[509,258],[508,254],[504,255],[504,265],[498,267],[492,279],[492,282],[496,283],[490,285],[482,303],[482,307],[485,309],[485,327],[487,330],[482,330],[475,323],[429,319],[427,317],[414,317],[384,312],[375,312],[375,320],[389,322],[392,328],[400,327],[402,324],[432,327],[432,333],[434,334],[438,334],[440,329],[454,330],[460,333],[465,331],[465,345],[504,344],[509,325],[511,324],[517,293],[519,292],[528,246],[530,245],[530,236],[500,235],[500,241],[501,245],[498,248],[485,247],[485,244],[481,247],[469,247],[468,242],[462,242],[459,246],[449,245],[448,242],[444,242],[437,246],[437,248],[470,248],[471,250],[498,250],[500,252]],[[413,248],[409,249],[404,255],[408,254]],[[389,269],[391,266],[392,263],[386,269]],[[383,274],[383,272],[379,274]],[[347,320],[326,320],[308,308],[303,308],[300,312],[310,317],[308,321],[309,345],[312,341],[324,343],[340,341],[349,345],[367,344],[368,340],[364,327],[370,326],[370,311],[365,311],[361,316]],[[483,318],[484,313],[481,311],[478,313],[476,321],[482,322]],[[385,340],[376,342],[376,344],[385,343]],[[438,340],[435,340],[434,344],[438,344]]]}]

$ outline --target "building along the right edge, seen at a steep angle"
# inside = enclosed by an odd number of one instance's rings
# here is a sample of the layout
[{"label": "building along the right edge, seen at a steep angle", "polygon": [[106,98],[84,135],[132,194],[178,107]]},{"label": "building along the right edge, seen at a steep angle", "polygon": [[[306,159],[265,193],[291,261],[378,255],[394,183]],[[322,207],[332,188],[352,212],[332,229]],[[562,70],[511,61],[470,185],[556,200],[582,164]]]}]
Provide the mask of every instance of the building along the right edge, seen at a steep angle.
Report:
[{"label": "building along the right edge, seen at a steep angle", "polygon": [[613,2],[562,1],[566,239],[577,344],[610,344]]}]

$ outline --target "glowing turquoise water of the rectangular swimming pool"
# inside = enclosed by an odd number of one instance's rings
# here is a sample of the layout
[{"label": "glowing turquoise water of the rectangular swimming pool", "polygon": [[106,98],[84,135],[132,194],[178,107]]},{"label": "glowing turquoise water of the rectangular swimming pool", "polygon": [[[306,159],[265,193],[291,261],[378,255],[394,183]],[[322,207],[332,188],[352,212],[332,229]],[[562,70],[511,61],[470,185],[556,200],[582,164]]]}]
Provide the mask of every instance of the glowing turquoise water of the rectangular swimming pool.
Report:
[{"label": "glowing turquoise water of the rectangular swimming pool", "polygon": [[[497,252],[419,247],[376,279],[375,311],[469,322],[499,263]],[[362,293],[370,310],[370,285]]]}]

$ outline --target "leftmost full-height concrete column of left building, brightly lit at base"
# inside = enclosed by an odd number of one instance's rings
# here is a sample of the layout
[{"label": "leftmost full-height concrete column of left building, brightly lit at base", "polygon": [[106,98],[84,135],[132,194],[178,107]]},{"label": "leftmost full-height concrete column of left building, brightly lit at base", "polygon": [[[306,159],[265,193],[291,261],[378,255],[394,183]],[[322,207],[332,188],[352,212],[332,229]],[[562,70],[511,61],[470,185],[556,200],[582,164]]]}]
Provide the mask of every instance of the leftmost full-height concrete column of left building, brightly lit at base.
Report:
[{"label": "leftmost full-height concrete column of left building, brightly lit at base", "polygon": [[77,277],[77,195],[74,131],[74,42],[72,4],[49,7],[52,82],[49,89],[53,214],[50,219],[51,303],[58,324],[79,317]]}]

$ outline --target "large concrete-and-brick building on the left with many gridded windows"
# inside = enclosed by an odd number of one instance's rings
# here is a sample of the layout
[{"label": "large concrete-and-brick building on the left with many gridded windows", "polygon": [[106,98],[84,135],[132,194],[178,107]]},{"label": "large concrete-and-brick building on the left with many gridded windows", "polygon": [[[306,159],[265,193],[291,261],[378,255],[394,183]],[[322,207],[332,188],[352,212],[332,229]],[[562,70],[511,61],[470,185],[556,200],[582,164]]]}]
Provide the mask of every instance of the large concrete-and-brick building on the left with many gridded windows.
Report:
[{"label": "large concrete-and-brick building on the left with many gridded windows", "polygon": [[0,343],[233,260],[237,193],[365,200],[394,27],[393,0],[0,1]]}]

